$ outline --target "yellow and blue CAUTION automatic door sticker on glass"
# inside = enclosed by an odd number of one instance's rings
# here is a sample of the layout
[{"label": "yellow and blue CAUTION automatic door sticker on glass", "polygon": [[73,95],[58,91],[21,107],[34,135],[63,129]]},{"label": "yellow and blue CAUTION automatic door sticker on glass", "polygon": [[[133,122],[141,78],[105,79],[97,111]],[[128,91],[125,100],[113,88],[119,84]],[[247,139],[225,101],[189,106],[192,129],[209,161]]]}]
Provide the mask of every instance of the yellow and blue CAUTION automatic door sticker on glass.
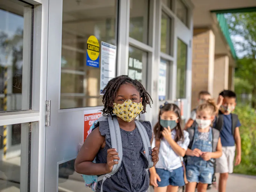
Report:
[{"label": "yellow and blue CAUTION automatic door sticker on glass", "polygon": [[100,44],[95,36],[90,36],[87,40],[86,65],[99,68]]}]

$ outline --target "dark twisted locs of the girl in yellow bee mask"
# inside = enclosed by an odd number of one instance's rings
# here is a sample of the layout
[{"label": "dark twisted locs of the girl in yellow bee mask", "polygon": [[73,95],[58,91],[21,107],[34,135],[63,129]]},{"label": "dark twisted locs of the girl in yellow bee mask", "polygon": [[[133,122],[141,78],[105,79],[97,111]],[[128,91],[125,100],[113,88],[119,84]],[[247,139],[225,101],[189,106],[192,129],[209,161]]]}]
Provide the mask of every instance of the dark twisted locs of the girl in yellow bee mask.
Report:
[{"label": "dark twisted locs of the girl in yellow bee mask", "polygon": [[146,106],[149,104],[151,107],[150,101],[153,103],[153,100],[151,99],[149,93],[146,91],[146,89],[143,87],[143,85],[135,80],[131,79],[127,75],[122,75],[115,77],[111,79],[107,86],[103,89],[103,99],[102,102],[104,104],[104,108],[102,110],[103,115],[114,115],[113,114],[113,103],[115,100],[116,92],[119,89],[119,87],[123,84],[131,84],[133,85],[137,91],[140,93],[140,97],[142,97],[142,105],[143,110],[141,114],[146,113]]}]

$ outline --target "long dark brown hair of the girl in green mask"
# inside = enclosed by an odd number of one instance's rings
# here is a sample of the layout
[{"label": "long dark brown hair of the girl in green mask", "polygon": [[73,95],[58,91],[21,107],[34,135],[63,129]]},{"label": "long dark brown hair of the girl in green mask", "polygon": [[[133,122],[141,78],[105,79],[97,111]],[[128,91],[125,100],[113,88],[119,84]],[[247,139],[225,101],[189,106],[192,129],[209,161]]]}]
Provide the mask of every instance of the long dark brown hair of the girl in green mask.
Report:
[{"label": "long dark brown hair of the girl in green mask", "polygon": [[175,135],[175,142],[180,141],[180,140],[184,140],[184,134],[183,134],[183,130],[182,130],[182,119],[180,116],[180,108],[173,104],[173,103],[168,103],[165,104],[159,112],[159,116],[158,116],[158,122],[156,123],[155,127],[154,127],[154,135],[156,140],[161,140],[163,139],[163,135],[162,135],[162,131],[164,130],[164,128],[162,127],[162,125],[160,125],[160,116],[165,112],[165,111],[172,111],[176,114],[177,117],[179,117],[179,122],[177,123],[177,128],[176,129],[176,135]]}]

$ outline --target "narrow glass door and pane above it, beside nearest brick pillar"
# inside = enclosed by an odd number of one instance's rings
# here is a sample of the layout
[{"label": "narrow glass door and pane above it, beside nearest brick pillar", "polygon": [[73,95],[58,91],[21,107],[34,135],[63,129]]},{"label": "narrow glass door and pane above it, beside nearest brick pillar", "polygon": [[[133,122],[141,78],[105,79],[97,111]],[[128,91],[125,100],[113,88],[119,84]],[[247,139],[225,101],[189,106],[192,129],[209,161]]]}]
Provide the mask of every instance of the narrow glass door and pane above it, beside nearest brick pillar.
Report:
[{"label": "narrow glass door and pane above it, beside nearest brick pillar", "polygon": [[175,56],[176,56],[176,102],[181,110],[182,119],[189,117],[191,106],[191,68],[192,68],[192,50],[191,40],[192,32],[190,26],[191,18],[189,9],[182,1],[175,3],[177,18],[175,20]]}]

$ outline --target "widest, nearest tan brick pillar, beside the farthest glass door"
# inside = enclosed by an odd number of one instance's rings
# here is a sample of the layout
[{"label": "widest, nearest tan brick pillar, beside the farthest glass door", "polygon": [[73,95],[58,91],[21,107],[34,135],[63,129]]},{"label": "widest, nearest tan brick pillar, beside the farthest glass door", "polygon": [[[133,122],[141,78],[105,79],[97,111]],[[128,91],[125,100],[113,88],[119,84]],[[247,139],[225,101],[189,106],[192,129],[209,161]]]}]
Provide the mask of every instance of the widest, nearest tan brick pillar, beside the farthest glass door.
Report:
[{"label": "widest, nearest tan brick pillar, beside the farthest glass door", "polygon": [[191,108],[202,90],[213,94],[215,35],[209,28],[194,28]]}]

